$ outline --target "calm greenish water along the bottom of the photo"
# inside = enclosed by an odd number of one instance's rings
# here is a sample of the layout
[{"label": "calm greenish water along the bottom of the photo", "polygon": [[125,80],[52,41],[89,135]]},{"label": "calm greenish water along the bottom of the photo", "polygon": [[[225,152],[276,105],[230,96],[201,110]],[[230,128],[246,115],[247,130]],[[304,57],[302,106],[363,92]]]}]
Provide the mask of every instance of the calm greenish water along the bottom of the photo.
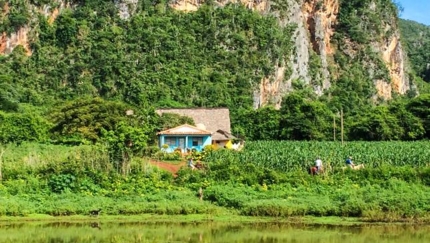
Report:
[{"label": "calm greenish water along the bottom of the photo", "polygon": [[274,223],[1,223],[0,242],[422,243],[430,226]]}]

